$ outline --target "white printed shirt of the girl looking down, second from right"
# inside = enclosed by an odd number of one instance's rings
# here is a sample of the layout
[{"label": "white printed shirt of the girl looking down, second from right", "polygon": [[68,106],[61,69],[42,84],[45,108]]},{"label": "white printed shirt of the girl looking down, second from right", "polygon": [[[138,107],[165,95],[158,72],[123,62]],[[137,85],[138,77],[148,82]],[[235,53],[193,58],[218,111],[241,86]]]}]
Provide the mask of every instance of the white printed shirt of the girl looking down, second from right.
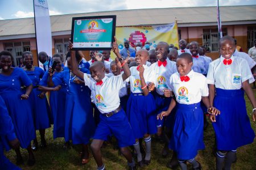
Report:
[{"label": "white printed shirt of the girl looking down, second from right", "polygon": [[171,75],[171,88],[177,103],[195,104],[201,101],[202,96],[209,96],[207,79],[203,74],[196,73],[191,69],[187,76],[189,76],[189,81],[181,82],[178,72]]}]

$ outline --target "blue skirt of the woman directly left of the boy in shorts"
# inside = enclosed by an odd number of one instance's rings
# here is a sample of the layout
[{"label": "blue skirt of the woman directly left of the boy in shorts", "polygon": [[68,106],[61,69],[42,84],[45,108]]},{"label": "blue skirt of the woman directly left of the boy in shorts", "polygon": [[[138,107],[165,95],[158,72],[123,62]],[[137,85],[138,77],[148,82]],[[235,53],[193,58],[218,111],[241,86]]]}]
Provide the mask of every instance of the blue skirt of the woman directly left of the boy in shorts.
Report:
[{"label": "blue skirt of the woman directly left of the boy in shorts", "polygon": [[84,93],[67,94],[65,104],[65,141],[72,140],[74,145],[88,144],[93,137],[93,119],[90,96]]}]

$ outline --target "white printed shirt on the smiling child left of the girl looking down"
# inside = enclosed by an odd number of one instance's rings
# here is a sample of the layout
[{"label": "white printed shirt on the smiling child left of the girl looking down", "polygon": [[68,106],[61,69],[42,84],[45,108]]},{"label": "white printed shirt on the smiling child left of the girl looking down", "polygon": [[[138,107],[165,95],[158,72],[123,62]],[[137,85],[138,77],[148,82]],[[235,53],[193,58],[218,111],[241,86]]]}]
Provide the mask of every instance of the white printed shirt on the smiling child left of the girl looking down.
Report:
[{"label": "white printed shirt on the smiling child left of the girl looking down", "polygon": [[163,90],[168,88],[171,90],[170,76],[177,72],[176,62],[167,59],[167,65],[164,67],[158,66],[158,62],[152,63],[150,66],[152,70],[155,70],[155,90],[159,95],[164,95]]}]

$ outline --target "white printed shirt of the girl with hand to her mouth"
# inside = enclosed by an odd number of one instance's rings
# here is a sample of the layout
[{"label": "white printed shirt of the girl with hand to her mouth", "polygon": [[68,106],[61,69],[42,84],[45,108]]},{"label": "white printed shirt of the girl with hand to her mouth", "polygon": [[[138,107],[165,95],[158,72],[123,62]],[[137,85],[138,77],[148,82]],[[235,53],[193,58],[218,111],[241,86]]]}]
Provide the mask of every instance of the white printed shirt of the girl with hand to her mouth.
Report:
[{"label": "white printed shirt of the girl with hand to her mouth", "polygon": [[[144,67],[144,79],[146,84],[152,82],[155,84],[155,71],[150,69],[147,65],[143,65]],[[137,66],[130,67],[131,75],[126,79],[127,82],[130,82],[130,89],[133,94],[143,93],[141,89],[141,78],[139,77],[139,71],[137,70]]]}]

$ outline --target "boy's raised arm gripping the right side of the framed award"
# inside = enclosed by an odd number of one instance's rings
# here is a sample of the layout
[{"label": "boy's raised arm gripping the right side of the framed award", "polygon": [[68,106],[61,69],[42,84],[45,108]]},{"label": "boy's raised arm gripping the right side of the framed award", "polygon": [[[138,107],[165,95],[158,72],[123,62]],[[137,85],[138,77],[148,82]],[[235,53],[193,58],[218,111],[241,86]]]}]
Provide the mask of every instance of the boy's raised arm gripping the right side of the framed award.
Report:
[{"label": "boy's raised arm gripping the right side of the framed award", "polygon": [[[115,38],[115,37],[114,37]],[[131,71],[127,65],[127,60],[123,60],[121,54],[119,53],[118,50],[118,44],[117,44],[117,39],[115,38],[115,41],[112,44],[112,50],[115,53],[115,56],[117,56],[117,58],[119,59],[119,61],[121,62],[121,66],[123,67],[123,74],[122,74],[122,78],[123,80],[126,80],[127,78],[129,78],[129,76],[131,75]],[[129,57],[127,57],[128,59]]]}]

